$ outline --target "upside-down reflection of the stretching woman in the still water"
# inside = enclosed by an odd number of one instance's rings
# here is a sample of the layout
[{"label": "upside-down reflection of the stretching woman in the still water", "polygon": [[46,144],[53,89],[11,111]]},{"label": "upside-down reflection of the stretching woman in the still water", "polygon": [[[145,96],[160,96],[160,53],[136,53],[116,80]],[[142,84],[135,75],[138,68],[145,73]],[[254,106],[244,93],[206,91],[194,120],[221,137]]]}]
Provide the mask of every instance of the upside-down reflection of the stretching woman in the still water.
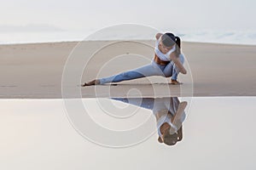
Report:
[{"label": "upside-down reflection of the stretching woman in the still water", "polygon": [[113,99],[152,110],[156,118],[160,143],[174,145],[183,139],[182,123],[185,119],[186,101],[180,102],[177,97]]}]

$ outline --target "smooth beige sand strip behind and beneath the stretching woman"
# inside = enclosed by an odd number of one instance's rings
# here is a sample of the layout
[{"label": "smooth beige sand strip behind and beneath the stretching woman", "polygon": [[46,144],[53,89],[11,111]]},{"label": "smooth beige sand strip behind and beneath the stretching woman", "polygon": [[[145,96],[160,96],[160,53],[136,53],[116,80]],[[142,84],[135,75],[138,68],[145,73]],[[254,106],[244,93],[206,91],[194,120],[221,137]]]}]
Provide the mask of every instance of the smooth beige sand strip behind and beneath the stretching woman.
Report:
[{"label": "smooth beige sand strip behind and beneath the stretching woman", "polygon": [[[154,46],[154,41],[143,41]],[[78,42],[49,42],[12,44],[0,46],[0,98],[1,99],[60,99],[62,73],[68,56],[73,52],[90,65],[84,67],[80,82],[69,82],[69,96],[73,89],[81,90],[84,98],[92,97],[132,97],[131,89],[140,91],[145,97],[166,97],[166,88],[172,96],[255,96],[256,95],[256,46],[229,45],[217,43],[183,42],[182,51],[186,56],[185,67],[189,74],[179,76],[181,86],[166,83],[170,78],[150,77],[127,82],[117,86],[102,85],[81,88],[79,84],[98,77],[111,76],[127,69],[145,65],[153,58],[154,49],[141,48],[134,42],[123,42],[119,46],[109,46],[115,42],[83,42],[86,48],[76,47]],[[99,48],[106,47],[102,51]],[[149,50],[148,50],[149,49]],[[95,53],[97,51],[97,53]],[[125,51],[125,54],[124,54]],[[122,55],[123,54],[123,55]],[[140,56],[136,55],[140,54]],[[116,56],[120,56],[116,58]],[[144,56],[144,58],[142,57]],[[115,57],[115,58],[114,58]],[[124,60],[125,59],[125,60]],[[84,61],[85,62],[85,61]],[[106,65],[106,63],[108,65]],[[122,65],[120,65],[120,63]],[[104,65],[105,64],[105,65]],[[76,65],[73,65],[76,68]],[[189,69],[190,68],[190,69]],[[101,72],[99,73],[99,69]],[[99,73],[99,74],[98,74]],[[149,82],[148,82],[149,80]],[[181,88],[182,94],[181,94]],[[193,88],[193,94],[191,89]],[[154,92],[157,91],[157,94]]]}]

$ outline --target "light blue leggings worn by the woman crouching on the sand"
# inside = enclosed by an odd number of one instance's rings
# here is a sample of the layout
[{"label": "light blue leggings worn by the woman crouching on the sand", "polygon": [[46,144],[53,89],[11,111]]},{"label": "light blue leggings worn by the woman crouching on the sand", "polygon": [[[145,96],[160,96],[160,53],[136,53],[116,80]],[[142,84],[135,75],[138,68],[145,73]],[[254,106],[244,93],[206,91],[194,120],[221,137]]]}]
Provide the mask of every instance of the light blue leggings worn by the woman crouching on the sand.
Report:
[{"label": "light blue leggings worn by the woman crouching on the sand", "polygon": [[[178,59],[181,63],[184,63],[184,56],[180,54]],[[177,80],[177,75],[179,70],[177,66],[171,61],[167,65],[158,65],[154,62],[154,59],[150,64],[139,67],[135,70],[125,71],[112,77],[101,78],[100,84],[105,84],[108,82],[122,82],[127,80],[133,80],[142,77],[152,77],[152,76],[162,76],[162,77],[172,77],[172,80]]]}]

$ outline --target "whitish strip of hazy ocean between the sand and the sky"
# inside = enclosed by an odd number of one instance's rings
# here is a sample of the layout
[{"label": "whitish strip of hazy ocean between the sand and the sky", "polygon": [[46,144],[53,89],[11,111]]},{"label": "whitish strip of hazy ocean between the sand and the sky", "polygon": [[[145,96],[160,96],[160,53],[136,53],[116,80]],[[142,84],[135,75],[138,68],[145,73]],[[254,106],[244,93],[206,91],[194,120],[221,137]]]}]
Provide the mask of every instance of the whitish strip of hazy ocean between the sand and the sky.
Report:
[{"label": "whitish strip of hazy ocean between the sand and the sky", "polygon": [[[103,32],[103,34],[105,34]],[[101,34],[94,31],[21,31],[0,32],[0,44],[34,43],[34,42],[73,42],[83,40],[124,40],[153,39],[154,34],[139,32],[129,34]],[[256,31],[178,31],[175,34],[184,42],[213,42],[226,44],[256,45]],[[91,36],[93,35],[93,36]]]}]

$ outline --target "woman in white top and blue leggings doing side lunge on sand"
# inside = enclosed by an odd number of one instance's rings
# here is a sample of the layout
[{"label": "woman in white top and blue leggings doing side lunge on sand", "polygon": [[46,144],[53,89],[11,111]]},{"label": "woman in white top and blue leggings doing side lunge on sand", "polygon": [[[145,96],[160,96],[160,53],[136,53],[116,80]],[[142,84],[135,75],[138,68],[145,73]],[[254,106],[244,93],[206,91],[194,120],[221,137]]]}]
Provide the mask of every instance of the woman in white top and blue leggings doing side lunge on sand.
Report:
[{"label": "woman in white top and blue leggings doing side lunge on sand", "polygon": [[155,37],[157,41],[154,48],[154,59],[149,65],[144,65],[135,70],[125,71],[112,77],[84,82],[82,86],[122,82],[151,76],[172,77],[171,84],[180,84],[180,82],[177,82],[178,73],[187,73],[183,67],[184,57],[180,51],[180,38],[169,32],[165,34],[157,33]]}]

